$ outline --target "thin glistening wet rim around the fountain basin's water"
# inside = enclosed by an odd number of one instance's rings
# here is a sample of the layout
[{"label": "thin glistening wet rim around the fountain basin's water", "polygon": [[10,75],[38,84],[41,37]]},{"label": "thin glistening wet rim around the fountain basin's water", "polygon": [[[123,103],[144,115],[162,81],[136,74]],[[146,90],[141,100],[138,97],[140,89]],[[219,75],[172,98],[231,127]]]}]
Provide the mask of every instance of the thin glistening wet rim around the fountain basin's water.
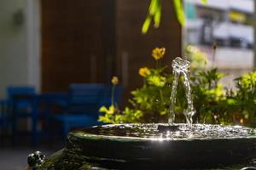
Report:
[{"label": "thin glistening wet rim around the fountain basin's water", "polygon": [[[107,124],[102,126],[119,126],[119,125],[166,125],[167,123],[125,123],[125,124]],[[183,123],[175,123],[175,125],[183,124]],[[196,125],[196,124],[195,124]],[[203,125],[211,125],[212,124],[203,124]],[[224,126],[224,125],[218,125]],[[93,126],[98,127],[98,126]],[[229,127],[242,127],[242,126],[229,126]],[[250,127],[248,127],[250,128]],[[253,129],[253,128],[252,128]],[[80,129],[81,130],[81,129]],[[86,133],[79,132],[79,130],[74,130],[68,134],[68,137],[74,136],[79,139],[103,139],[103,140],[111,140],[111,141],[129,141],[129,142],[174,142],[174,141],[184,141],[184,142],[192,142],[192,141],[213,141],[213,140],[235,140],[235,139],[256,139],[256,135],[250,136],[235,136],[235,137],[225,137],[225,138],[194,138],[194,139],[172,139],[172,138],[140,138],[140,137],[129,137],[129,136],[118,136],[118,135],[103,135],[103,134],[94,134],[94,133]]]}]

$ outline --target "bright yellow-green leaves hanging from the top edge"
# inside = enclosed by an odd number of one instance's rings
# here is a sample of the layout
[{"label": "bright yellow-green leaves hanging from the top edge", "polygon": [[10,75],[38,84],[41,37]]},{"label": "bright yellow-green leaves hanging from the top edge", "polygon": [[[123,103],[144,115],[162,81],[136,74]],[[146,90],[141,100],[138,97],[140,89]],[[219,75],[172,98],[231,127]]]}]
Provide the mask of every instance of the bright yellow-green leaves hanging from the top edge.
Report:
[{"label": "bright yellow-green leaves hanging from the top edge", "polygon": [[[207,0],[201,0],[201,3],[206,4]],[[185,14],[184,14],[184,10],[183,10],[183,0],[173,0],[173,6],[174,6],[175,12],[177,14],[178,22],[181,24],[181,26],[185,26]],[[143,28],[142,28],[143,34],[147,33],[152,20],[154,20],[155,28],[158,28],[160,26],[161,9],[162,9],[161,0],[151,0],[149,8],[148,8],[148,16],[143,23]]]}]

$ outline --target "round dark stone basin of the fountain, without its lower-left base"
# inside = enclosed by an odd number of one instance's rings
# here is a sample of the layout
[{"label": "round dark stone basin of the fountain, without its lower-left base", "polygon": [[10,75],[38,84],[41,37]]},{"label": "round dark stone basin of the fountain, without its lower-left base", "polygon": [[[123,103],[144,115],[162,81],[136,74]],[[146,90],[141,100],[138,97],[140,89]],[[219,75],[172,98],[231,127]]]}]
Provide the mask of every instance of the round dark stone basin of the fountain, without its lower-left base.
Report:
[{"label": "round dark stone basin of the fountain, without its lower-left base", "polygon": [[[127,126],[133,125],[105,125],[73,131],[68,135],[66,151],[108,168],[219,167],[247,162],[256,157],[256,136],[239,132],[243,127],[230,126],[227,135],[222,133],[209,138],[195,137],[191,133],[189,137],[167,137],[166,132],[169,130],[165,124],[136,125],[146,126],[143,128],[145,130],[139,133],[124,130],[122,133],[122,129]],[[164,132],[157,133],[157,126],[165,127]],[[119,127],[121,128],[117,129]],[[148,133],[147,128],[149,132],[156,133]],[[236,130],[232,130],[233,128]],[[250,132],[253,130],[246,129]],[[173,127],[170,131],[179,133]],[[183,131],[187,133],[186,130]]]}]

